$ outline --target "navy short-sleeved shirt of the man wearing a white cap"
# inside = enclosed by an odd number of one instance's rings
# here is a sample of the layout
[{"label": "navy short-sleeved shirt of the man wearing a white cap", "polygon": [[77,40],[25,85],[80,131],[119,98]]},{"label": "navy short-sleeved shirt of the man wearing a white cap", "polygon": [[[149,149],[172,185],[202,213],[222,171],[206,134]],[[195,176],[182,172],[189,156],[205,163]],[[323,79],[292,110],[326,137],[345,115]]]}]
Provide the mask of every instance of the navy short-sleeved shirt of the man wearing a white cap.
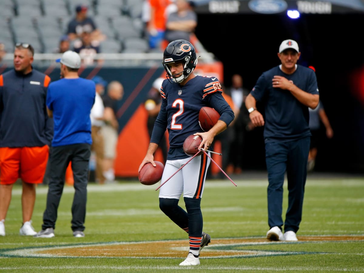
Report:
[{"label": "navy short-sleeved shirt of the man wearing a white cap", "polygon": [[289,141],[310,136],[308,107],[300,103],[288,90],[274,88],[272,79],[283,76],[301,90],[318,95],[315,72],[297,65],[293,74],[285,74],[279,66],[263,72],[250,94],[265,103],[264,139]]}]

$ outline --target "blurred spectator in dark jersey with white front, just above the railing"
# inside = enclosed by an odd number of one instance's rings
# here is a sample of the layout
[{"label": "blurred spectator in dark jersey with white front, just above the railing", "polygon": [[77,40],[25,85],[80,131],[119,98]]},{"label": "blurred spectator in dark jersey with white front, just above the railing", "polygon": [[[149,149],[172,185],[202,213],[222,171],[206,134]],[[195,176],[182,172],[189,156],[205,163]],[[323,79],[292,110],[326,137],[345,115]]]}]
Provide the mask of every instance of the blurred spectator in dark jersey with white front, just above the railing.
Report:
[{"label": "blurred spectator in dark jersey with white front, just above the railing", "polygon": [[100,42],[91,39],[91,32],[88,31],[88,28],[84,29],[80,40],[75,40],[74,51],[80,54],[82,63],[86,66],[95,63],[101,65],[103,63],[102,59],[95,59],[97,54],[101,52]]}]

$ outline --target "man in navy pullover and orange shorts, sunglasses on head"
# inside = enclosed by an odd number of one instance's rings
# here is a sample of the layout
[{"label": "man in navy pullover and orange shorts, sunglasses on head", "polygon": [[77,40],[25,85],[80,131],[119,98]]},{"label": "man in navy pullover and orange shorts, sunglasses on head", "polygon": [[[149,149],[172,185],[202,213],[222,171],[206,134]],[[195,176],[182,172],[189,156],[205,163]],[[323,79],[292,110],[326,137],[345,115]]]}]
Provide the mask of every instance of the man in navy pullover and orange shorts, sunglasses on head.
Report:
[{"label": "man in navy pullover and orange shorts, sunglasses on head", "polygon": [[[17,43],[14,69],[0,75],[0,236],[14,183],[22,180],[23,225],[20,235],[36,234],[31,225],[36,184],[43,182],[53,137],[53,123],[46,111],[49,76],[33,69],[34,49]],[[15,216],[14,216],[15,217]]]}]

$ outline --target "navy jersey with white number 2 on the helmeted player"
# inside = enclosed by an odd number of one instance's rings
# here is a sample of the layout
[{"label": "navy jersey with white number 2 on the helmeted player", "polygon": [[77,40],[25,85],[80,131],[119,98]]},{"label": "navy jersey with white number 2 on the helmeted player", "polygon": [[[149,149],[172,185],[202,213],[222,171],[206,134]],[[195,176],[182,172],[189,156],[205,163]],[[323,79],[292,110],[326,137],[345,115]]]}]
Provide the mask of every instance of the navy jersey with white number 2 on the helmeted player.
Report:
[{"label": "navy jersey with white number 2 on the helmeted player", "polygon": [[184,86],[164,80],[161,86],[162,106],[154,123],[150,142],[157,143],[166,130],[169,133],[167,159],[187,158],[183,151],[185,139],[196,132],[203,132],[198,123],[198,114],[203,106],[214,108],[228,126],[234,113],[222,96],[218,79],[210,76],[195,76]]}]

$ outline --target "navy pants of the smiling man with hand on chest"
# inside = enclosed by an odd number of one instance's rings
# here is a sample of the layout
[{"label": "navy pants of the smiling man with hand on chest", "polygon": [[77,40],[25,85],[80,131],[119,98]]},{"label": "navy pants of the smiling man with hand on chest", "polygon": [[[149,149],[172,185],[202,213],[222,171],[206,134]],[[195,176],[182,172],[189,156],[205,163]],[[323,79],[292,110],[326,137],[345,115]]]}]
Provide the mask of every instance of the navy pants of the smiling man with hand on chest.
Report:
[{"label": "navy pants of the smiling man with hand on chest", "polygon": [[284,231],[297,232],[301,218],[310,137],[294,141],[273,141],[265,144],[265,159],[268,170],[268,225],[282,229],[283,183],[285,172],[288,180],[288,209]]}]

